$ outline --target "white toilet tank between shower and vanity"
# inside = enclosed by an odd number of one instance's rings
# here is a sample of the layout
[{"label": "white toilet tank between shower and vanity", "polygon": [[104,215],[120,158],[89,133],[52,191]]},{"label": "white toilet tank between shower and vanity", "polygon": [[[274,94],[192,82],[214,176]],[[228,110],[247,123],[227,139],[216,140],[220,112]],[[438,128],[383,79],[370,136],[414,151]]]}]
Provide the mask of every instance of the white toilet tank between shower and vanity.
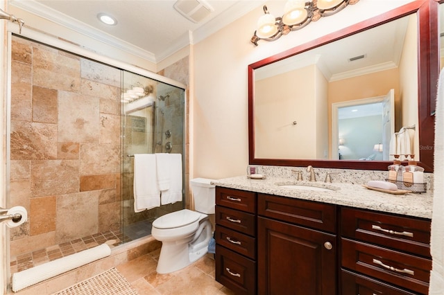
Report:
[{"label": "white toilet tank between shower and vanity", "polygon": [[189,181],[194,196],[194,210],[205,214],[214,214],[216,186],[210,184],[213,179],[195,178]]}]

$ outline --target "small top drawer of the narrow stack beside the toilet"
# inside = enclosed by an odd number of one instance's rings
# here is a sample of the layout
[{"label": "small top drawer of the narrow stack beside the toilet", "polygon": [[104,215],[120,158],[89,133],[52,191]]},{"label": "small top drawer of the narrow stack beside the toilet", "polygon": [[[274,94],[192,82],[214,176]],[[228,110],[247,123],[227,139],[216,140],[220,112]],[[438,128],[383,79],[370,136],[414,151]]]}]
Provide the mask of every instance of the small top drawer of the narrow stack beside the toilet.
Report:
[{"label": "small top drawer of the narrow stack beside the toilet", "polygon": [[221,205],[249,213],[256,212],[255,193],[216,186],[216,205]]}]

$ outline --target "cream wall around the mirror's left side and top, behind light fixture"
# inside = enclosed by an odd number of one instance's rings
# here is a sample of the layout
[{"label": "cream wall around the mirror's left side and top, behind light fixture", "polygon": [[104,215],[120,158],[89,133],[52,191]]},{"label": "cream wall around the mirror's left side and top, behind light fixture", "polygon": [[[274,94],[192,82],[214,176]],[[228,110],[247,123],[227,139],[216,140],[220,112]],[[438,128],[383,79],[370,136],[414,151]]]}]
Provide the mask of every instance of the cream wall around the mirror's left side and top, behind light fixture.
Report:
[{"label": "cream wall around the mirror's left side and top, behind light fixture", "polygon": [[[244,175],[248,165],[248,64],[345,28],[410,1],[359,1],[275,42],[249,42],[262,7],[194,45],[194,175]],[[278,15],[284,1],[267,1]],[[278,87],[279,85],[277,85]]]}]

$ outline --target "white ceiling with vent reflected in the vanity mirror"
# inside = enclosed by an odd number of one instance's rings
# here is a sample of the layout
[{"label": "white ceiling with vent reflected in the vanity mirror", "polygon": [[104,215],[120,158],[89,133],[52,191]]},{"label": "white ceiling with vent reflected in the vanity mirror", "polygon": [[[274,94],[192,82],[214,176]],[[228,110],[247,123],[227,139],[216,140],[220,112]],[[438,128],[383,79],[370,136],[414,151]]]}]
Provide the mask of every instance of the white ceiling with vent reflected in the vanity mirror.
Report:
[{"label": "white ceiling with vent reflected in the vanity mirror", "polygon": [[[415,16],[402,17],[269,64],[255,70],[255,80],[300,69],[310,64],[316,64],[330,82],[396,68],[404,48],[409,21],[416,21]],[[350,58],[359,55],[364,55],[364,58],[354,62],[349,61]]]}]

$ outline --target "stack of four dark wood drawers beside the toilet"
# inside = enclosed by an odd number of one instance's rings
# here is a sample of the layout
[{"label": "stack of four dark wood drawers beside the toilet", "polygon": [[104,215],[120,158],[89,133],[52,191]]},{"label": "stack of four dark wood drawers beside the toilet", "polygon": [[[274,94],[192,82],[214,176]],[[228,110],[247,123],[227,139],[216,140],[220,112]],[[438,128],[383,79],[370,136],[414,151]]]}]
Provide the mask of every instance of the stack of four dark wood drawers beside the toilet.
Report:
[{"label": "stack of four dark wood drawers beside the toilet", "polygon": [[216,280],[236,294],[257,293],[256,194],[216,187]]}]

